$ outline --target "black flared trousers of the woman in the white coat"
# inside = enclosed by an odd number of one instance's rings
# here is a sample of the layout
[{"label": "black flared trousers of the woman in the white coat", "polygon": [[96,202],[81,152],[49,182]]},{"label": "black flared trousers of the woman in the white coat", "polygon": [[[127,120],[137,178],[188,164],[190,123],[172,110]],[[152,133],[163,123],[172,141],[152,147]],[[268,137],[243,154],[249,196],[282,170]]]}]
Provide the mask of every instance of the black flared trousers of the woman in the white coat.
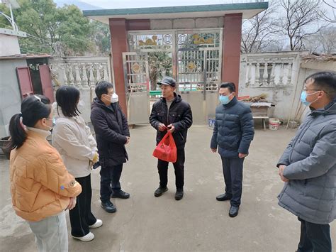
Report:
[{"label": "black flared trousers of the woman in the white coat", "polygon": [[69,217],[72,236],[82,237],[89,234],[89,226],[96,223],[96,217],[91,213],[91,175],[76,180],[82,185],[82,192],[77,196],[76,207],[69,210]]}]

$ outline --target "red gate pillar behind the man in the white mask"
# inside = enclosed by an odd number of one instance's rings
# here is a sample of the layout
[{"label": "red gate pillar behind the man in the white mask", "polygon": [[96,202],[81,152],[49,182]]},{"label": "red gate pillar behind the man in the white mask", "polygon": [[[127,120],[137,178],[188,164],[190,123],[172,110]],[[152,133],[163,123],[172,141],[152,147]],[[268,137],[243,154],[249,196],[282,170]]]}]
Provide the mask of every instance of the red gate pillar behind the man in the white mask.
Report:
[{"label": "red gate pillar behind the man in the white mask", "polygon": [[127,116],[127,102],[125,90],[125,77],[123,73],[123,52],[127,52],[127,31],[125,18],[109,18],[111,33],[111,51],[113,60],[115,92],[119,96],[119,104]]}]

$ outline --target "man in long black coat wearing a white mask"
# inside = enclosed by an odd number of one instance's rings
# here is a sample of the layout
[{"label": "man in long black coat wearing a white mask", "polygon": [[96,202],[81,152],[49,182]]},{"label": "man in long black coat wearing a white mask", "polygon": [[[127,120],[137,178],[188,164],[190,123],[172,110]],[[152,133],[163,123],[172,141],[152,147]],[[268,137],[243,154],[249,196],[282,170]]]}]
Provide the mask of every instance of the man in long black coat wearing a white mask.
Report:
[{"label": "man in long black coat wearing a white mask", "polygon": [[96,98],[91,104],[91,123],[101,164],[101,207],[106,212],[116,212],[111,197],[127,199],[130,195],[121,190],[119,182],[123,163],[128,160],[125,145],[130,142],[128,122],[118,104],[113,85],[101,81],[96,84]]}]

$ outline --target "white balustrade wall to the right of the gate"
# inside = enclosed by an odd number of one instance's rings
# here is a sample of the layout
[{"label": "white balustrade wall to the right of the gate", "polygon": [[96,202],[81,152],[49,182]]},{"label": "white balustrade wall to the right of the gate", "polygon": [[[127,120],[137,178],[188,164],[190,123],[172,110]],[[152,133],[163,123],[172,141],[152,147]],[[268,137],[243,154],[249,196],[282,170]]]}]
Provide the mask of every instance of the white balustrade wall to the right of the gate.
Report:
[{"label": "white balustrade wall to the right of the gate", "polygon": [[[276,104],[274,109],[269,109],[270,117],[282,121],[294,119],[304,80],[299,75],[301,55],[306,55],[306,52],[243,54],[240,63],[239,96],[267,94],[267,100]],[[273,64],[272,83],[257,81],[257,63],[263,65],[265,62],[269,66]]]}]

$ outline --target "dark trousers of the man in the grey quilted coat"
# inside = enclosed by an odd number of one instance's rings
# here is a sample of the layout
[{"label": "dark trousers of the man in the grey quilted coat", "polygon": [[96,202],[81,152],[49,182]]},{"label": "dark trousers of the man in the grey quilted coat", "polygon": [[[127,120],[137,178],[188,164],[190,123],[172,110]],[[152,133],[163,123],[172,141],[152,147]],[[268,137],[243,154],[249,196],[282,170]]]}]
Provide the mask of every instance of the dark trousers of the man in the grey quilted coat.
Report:
[{"label": "dark trousers of the man in the grey quilted coat", "polygon": [[298,220],[301,221],[298,252],[331,252],[329,224],[315,224],[300,218]]}]

